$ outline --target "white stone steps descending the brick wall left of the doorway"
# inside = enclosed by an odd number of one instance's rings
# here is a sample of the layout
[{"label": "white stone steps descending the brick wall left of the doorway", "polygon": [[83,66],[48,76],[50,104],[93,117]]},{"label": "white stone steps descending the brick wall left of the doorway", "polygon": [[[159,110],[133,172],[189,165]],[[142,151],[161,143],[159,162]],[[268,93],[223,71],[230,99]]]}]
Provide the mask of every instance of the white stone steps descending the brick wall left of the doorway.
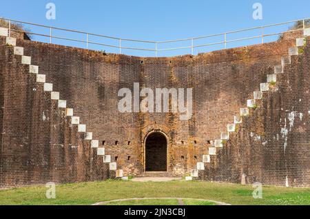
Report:
[{"label": "white stone steps descending the brick wall left of the doorway", "polygon": [[[26,56],[26,51],[24,48],[17,46],[17,39],[10,37],[10,32],[8,28],[0,28],[0,37],[6,37],[6,45],[12,46],[14,50],[14,55],[21,56],[21,64],[29,66],[29,74],[36,77],[37,83],[43,84],[43,92],[50,93],[50,98],[52,101],[56,101],[59,110],[65,111],[65,116],[70,119],[70,124],[76,125],[78,127],[78,132],[83,133],[85,141],[90,143],[90,147],[96,149],[99,158],[103,159],[103,163],[110,164],[110,175],[116,176],[116,178],[123,178],[123,169],[118,169],[116,163],[111,163],[111,156],[105,154],[105,148],[99,147],[99,140],[93,138],[92,132],[86,131],[86,125],[81,123],[81,118],[74,115],[74,110],[67,107],[67,101],[61,99],[61,94],[53,90],[53,84],[45,81],[45,74],[41,74],[39,66],[32,65],[31,56]],[[65,118],[63,118],[65,119]]]}]

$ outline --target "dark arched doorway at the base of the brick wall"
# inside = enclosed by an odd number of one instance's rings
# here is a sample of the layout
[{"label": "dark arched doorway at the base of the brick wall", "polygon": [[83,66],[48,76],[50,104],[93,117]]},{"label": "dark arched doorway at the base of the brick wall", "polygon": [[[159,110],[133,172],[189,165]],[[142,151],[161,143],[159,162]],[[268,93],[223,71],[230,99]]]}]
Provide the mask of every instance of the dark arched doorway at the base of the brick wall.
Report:
[{"label": "dark arched doorway at the base of the brick wall", "polygon": [[161,132],[145,140],[145,171],[167,171],[167,138]]}]

